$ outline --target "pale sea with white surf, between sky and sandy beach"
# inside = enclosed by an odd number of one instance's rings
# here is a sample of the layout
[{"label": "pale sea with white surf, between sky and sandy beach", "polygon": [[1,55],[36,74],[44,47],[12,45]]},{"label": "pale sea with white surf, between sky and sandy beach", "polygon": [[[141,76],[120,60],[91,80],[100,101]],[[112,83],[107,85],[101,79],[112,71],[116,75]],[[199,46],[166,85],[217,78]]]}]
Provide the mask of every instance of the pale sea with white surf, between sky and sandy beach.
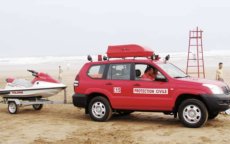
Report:
[{"label": "pale sea with white surf, between sky and sandy beach", "polygon": [[[187,65],[187,52],[168,52],[159,53],[161,59],[164,59],[166,55],[170,55],[170,62],[181,68],[186,69]],[[93,60],[97,60],[97,56],[93,56]],[[43,57],[5,57],[0,58],[0,72],[7,68],[15,69],[31,69],[39,68],[42,66],[49,66],[50,68],[58,67],[61,65],[66,69],[79,69],[84,63],[86,63],[87,56],[43,56]],[[191,60],[191,64],[196,64],[197,61]],[[224,67],[230,67],[230,50],[218,50],[218,51],[205,51],[204,52],[204,64],[205,67],[217,68],[218,63],[223,62]]]}]

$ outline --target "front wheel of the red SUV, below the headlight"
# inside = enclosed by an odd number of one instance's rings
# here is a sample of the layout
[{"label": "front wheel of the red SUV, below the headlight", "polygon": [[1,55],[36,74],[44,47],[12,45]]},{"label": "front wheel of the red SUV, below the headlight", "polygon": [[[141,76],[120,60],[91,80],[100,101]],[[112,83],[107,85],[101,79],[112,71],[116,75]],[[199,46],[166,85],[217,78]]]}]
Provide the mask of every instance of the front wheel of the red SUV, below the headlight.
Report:
[{"label": "front wheel of the red SUV, below the headlight", "polygon": [[197,99],[187,99],[178,109],[180,121],[189,128],[202,127],[208,120],[208,111],[203,102]]}]

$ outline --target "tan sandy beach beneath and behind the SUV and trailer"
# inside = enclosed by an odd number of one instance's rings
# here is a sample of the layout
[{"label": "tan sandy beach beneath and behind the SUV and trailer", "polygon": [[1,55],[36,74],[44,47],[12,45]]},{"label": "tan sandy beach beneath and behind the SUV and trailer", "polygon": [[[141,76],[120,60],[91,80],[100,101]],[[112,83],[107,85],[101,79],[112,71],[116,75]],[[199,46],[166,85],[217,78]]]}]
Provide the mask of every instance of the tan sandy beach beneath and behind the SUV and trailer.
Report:
[{"label": "tan sandy beach beneath and behind the SUV and trailer", "polygon": [[[43,68],[57,77],[56,70]],[[207,78],[215,77],[215,69],[206,68]],[[230,69],[224,68],[225,81],[230,82]],[[73,80],[77,69],[63,73],[63,83],[67,88],[69,104],[44,105],[41,111],[34,111],[31,106],[20,108],[16,115],[7,111],[7,105],[0,104],[0,144],[43,144],[43,143],[156,143],[156,144],[228,144],[230,141],[230,116],[220,114],[202,128],[185,128],[178,119],[162,113],[135,112],[130,116],[114,115],[108,122],[94,122],[84,109],[71,104]],[[1,73],[0,86],[5,85],[7,75],[22,76],[31,79],[25,70]],[[63,100],[63,93],[50,98]]]}]

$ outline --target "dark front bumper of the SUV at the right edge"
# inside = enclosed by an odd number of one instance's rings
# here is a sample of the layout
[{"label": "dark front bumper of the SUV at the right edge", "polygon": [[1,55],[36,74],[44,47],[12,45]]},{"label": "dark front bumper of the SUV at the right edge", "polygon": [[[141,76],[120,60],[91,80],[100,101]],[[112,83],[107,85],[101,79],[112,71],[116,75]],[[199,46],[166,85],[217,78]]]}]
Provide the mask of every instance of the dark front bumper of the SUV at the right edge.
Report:
[{"label": "dark front bumper of the SUV at the right edge", "polygon": [[208,110],[211,112],[221,112],[230,108],[230,95],[212,94],[202,95]]}]

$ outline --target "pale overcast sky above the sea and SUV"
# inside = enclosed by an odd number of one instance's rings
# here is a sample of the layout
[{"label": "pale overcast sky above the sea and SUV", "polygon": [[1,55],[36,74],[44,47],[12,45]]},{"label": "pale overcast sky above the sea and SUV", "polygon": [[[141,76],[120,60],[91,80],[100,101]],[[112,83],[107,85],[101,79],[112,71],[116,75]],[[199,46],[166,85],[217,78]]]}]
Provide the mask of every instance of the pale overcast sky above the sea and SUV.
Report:
[{"label": "pale overcast sky above the sea and SUV", "polygon": [[136,43],[183,52],[188,32],[204,50],[230,49],[229,0],[0,0],[0,56],[78,56]]}]

